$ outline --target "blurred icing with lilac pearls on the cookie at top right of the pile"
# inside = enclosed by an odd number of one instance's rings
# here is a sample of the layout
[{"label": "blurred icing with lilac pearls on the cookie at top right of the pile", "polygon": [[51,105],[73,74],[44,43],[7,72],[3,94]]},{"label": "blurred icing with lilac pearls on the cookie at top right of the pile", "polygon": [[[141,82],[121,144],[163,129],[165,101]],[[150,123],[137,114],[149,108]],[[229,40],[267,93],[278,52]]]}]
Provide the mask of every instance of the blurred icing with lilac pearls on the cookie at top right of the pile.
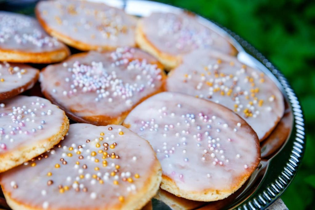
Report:
[{"label": "blurred icing with lilac pearls on the cookie at top right of the pile", "polygon": [[181,13],[152,13],[142,18],[146,39],[159,51],[173,56],[198,48],[210,48],[231,53],[231,44],[210,28],[203,26],[193,15]]}]

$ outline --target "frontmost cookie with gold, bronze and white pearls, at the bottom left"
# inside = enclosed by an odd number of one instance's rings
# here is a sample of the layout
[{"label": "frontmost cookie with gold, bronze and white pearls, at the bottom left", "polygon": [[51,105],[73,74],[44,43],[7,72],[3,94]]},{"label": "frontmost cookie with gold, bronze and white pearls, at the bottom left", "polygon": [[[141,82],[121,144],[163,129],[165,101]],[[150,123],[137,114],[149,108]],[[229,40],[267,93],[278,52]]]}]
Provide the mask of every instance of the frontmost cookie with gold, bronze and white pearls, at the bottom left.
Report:
[{"label": "frontmost cookie with gold, bronze and white pearls, at the bottom left", "polygon": [[140,209],[161,174],[151,145],[128,128],[77,123],[54,149],[2,173],[0,184],[14,210]]}]

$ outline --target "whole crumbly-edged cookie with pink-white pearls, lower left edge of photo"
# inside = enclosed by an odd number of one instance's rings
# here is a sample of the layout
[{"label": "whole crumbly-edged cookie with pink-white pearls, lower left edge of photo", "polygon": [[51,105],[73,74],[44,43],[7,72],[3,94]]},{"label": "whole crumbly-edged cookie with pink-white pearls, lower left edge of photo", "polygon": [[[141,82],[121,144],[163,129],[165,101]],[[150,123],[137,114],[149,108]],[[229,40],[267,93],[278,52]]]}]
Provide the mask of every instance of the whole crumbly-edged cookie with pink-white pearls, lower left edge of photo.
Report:
[{"label": "whole crumbly-edged cookie with pink-white pearls, lower left edge of photo", "polygon": [[42,154],[66,135],[69,120],[49,100],[16,96],[0,102],[0,173]]}]

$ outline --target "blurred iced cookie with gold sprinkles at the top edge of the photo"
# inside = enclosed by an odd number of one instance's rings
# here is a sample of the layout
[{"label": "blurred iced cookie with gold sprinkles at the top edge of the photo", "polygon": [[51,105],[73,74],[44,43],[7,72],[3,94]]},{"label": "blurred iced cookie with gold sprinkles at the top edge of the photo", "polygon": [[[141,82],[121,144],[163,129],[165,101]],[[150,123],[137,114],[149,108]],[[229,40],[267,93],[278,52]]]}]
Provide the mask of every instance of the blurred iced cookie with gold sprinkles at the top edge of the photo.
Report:
[{"label": "blurred iced cookie with gold sprinkles at the top edge of the photo", "polygon": [[136,18],[103,3],[78,0],[41,1],[36,16],[53,37],[79,50],[135,46]]}]

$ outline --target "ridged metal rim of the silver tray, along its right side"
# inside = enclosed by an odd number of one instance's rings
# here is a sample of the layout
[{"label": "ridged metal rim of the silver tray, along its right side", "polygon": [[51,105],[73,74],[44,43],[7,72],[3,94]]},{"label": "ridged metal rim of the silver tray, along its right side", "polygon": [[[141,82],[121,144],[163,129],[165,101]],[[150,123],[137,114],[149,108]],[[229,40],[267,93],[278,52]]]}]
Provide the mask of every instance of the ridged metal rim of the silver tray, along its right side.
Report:
[{"label": "ridged metal rim of the silver tray, along its right side", "polygon": [[[217,23],[216,23],[217,24]],[[219,24],[217,24],[220,26]],[[221,27],[221,26],[220,26]],[[278,79],[284,88],[285,94],[290,102],[292,108],[292,113],[294,116],[294,126],[290,139],[293,139],[293,148],[290,153],[289,160],[285,163],[285,167],[281,171],[281,174],[278,175],[270,186],[266,187],[266,190],[263,190],[262,193],[253,193],[251,198],[245,200],[243,203],[239,204],[237,207],[234,207],[238,210],[248,210],[248,209],[266,209],[269,207],[277,198],[281,196],[284,190],[289,186],[293,178],[295,177],[298,168],[301,165],[301,160],[304,155],[305,150],[305,133],[304,133],[304,116],[303,111],[301,110],[300,103],[296,97],[293,89],[290,87],[289,82],[283,76],[283,74],[278,71],[271,62],[269,62],[265,56],[263,56],[258,50],[256,50],[252,45],[250,45],[243,38],[239,37],[237,34],[231,30],[221,27],[228,34],[230,34],[241,46],[259,60],[263,65],[265,65],[269,71]],[[290,140],[289,139],[289,140]],[[292,140],[291,140],[292,141]],[[256,195],[257,194],[257,195]]]}]

